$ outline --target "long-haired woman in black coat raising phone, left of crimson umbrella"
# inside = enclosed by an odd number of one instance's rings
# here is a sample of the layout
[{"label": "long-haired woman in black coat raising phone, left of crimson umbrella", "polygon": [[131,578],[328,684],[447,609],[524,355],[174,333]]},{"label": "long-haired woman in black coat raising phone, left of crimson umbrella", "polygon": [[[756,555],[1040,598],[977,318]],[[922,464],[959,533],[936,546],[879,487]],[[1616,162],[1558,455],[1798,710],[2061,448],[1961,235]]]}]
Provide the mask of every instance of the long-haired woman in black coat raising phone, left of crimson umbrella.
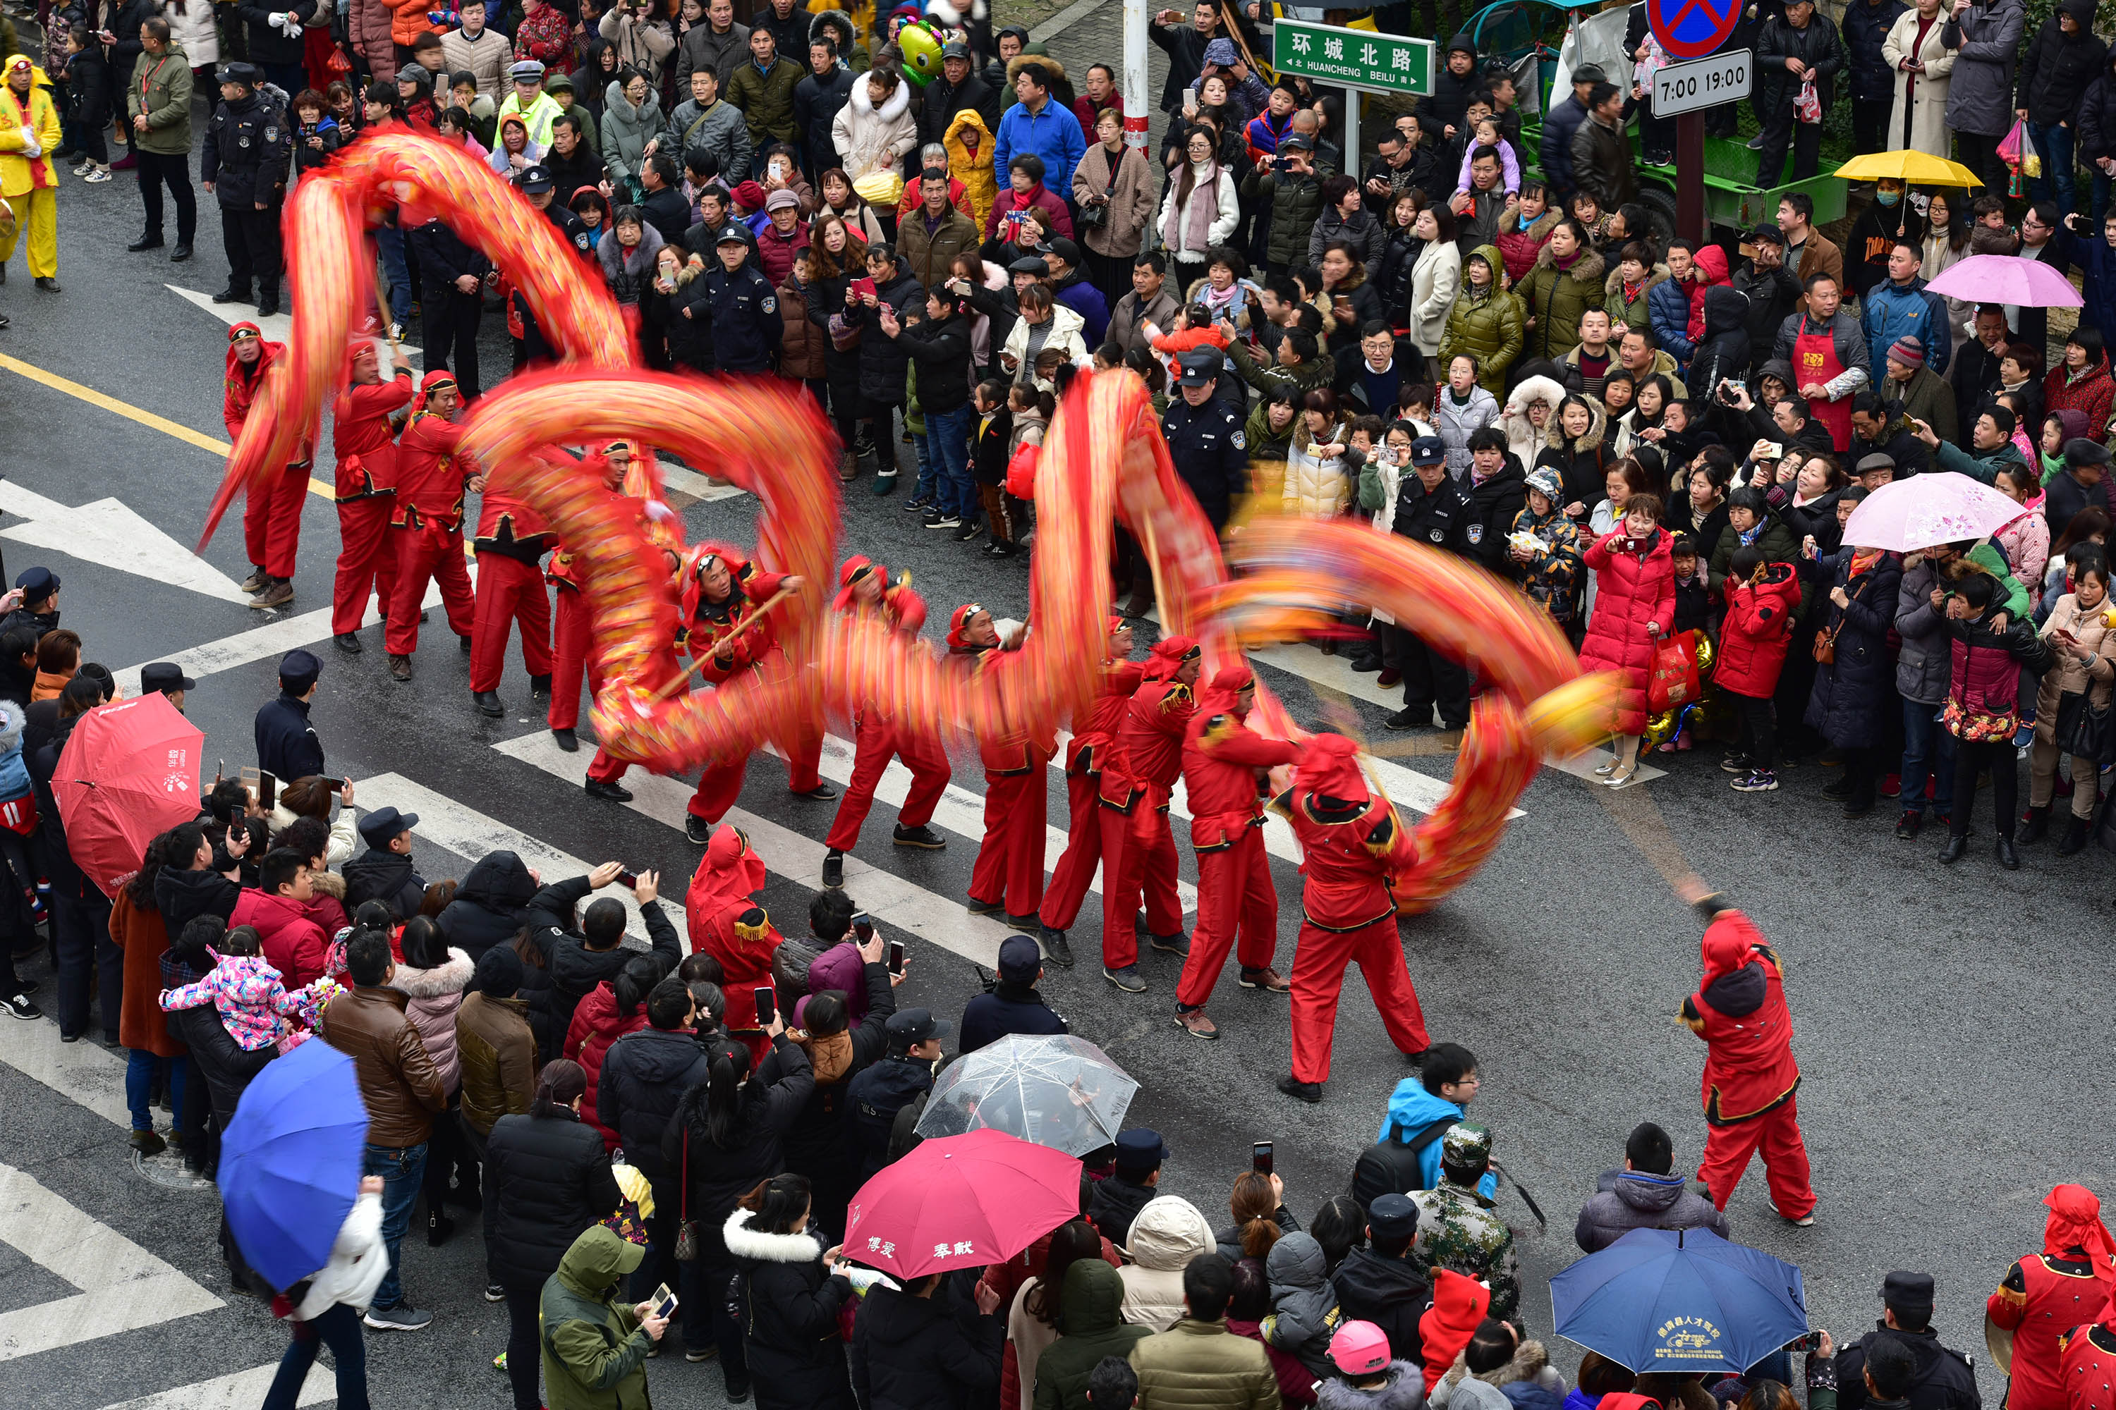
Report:
[{"label": "long-haired woman in black coat raising phone, left of crimson umbrella", "polygon": [[715,1340],[730,1402],[749,1393],[749,1366],[743,1325],[726,1309],[736,1256],[724,1226],[758,1180],[785,1169],[783,1137],[815,1091],[808,1055],[787,1038],[785,1019],[774,1015],[764,1036],[772,1046],[755,1072],[749,1044],[732,1038],[711,1044],[707,1078],[683,1093],[662,1137],[662,1158],[681,1171],[688,1218],[698,1224],[698,1258],[681,1264],[683,1355],[703,1359],[707,1340]]}]

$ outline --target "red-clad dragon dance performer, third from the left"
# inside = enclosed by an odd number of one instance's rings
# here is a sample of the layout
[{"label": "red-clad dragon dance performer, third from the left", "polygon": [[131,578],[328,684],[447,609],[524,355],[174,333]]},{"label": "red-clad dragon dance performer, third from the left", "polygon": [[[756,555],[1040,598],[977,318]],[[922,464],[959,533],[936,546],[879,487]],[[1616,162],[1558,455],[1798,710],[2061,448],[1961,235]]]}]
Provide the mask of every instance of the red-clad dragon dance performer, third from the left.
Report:
[{"label": "red-clad dragon dance performer, third from the left", "polygon": [[398,446],[398,497],[396,514],[389,516],[398,579],[383,636],[391,657],[408,657],[419,649],[419,602],[430,581],[440,583],[449,628],[466,647],[476,626],[470,571],[463,567],[463,486],[478,474],[478,463],[457,450],[463,427],[425,410],[425,402],[438,391],[455,391],[455,374],[446,368],[427,372],[419,383],[421,410],[404,427],[404,444]]}]

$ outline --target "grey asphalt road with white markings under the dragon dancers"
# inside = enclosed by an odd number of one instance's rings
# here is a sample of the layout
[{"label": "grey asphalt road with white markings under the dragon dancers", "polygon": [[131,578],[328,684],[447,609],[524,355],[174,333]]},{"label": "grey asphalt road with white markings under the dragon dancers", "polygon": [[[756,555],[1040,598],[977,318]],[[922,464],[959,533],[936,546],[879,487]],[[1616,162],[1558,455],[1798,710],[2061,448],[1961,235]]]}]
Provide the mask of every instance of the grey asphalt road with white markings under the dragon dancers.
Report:
[{"label": "grey asphalt road with white markings under the dragon dancers", "polygon": [[[218,287],[216,216],[205,211],[199,260],[169,266],[123,252],[138,230],[129,184],[66,180],[59,209],[66,294],[30,290],[19,262],[0,292],[0,309],[15,319],[0,334],[0,495],[13,495],[0,501],[8,509],[0,550],[11,573],[49,562],[63,575],[66,624],[80,630],[93,660],[123,668],[212,647],[220,668],[203,674],[190,715],[207,731],[207,757],[226,757],[231,767],[250,759],[250,717],[273,689],[275,651],[317,641],[326,674],[315,725],[332,769],[360,780],[364,801],[387,795],[432,816],[419,846],[427,877],[461,875],[493,846],[540,852],[548,867],[616,856],[673,879],[688,873],[696,850],[675,816],[683,784],[643,786],[633,808],[586,799],[578,774],[552,772],[578,769],[586,755],[548,748],[540,717],[525,708],[518,660],[501,687],[508,719],[485,721],[470,708],[461,657],[438,617],[411,685],[387,681],[372,630],[358,660],[322,643],[326,628],[305,613],[326,607],[336,550],[328,505],[309,503],[294,605],[264,624],[264,643],[243,638],[260,628],[260,613],[216,596],[212,575],[186,552],[218,457],[23,374],[23,366],[42,368],[218,440],[224,323],[165,287]],[[487,357],[506,366],[497,330]],[[51,505],[104,501],[167,537],[129,526],[112,507],[49,526]],[[688,503],[683,514],[694,535],[741,541],[753,531],[747,497]],[[969,596],[1005,615],[1026,611],[1024,562],[995,564],[971,545],[937,541],[897,501],[874,501],[859,486],[844,518],[846,550],[912,569],[937,613]],[[224,579],[245,573],[237,526],[207,548],[203,567]],[[169,586],[178,579],[193,586]],[[1316,723],[1303,676],[1329,676],[1335,666],[1312,651],[1278,660],[1295,670],[1263,666],[1265,681]],[[1371,676],[1363,685],[1371,691]],[[1384,706],[1363,698],[1358,710],[1380,731]],[[2099,1125],[2110,1057],[2101,1015],[2112,998],[2103,858],[2061,865],[2036,848],[2023,871],[2004,873],[1978,843],[1968,862],[1942,871],[1932,860],[1936,843],[1898,843],[1881,816],[1841,820],[1816,797],[1820,769],[1792,772],[1777,795],[1741,797],[1727,791],[1714,761],[1684,755],[1634,801],[1650,803],[1648,818],[1665,820],[1674,843],[1786,953],[1822,1192],[1818,1224],[1792,1230],[1771,1216],[1752,1173],[1731,1205],[1735,1232],[1796,1260],[1818,1323],[1839,1332],[1877,1315],[1885,1270],[1930,1268],[1947,1340],[1974,1349],[1978,1300],[2010,1258],[2040,1247],[2040,1194],[2057,1180],[2108,1188],[2116,1177]],[[1443,780],[1449,761],[1403,763]],[[982,795],[973,759],[956,759],[956,784],[965,795],[942,818],[946,852],[895,854],[882,812],[851,869],[855,901],[912,943],[906,998],[944,1013],[971,991],[963,953],[980,953],[995,934],[956,909],[975,852],[975,822],[965,820]],[[798,924],[815,894],[829,808],[791,799],[783,767],[768,757],[749,769],[741,808],[772,865],[766,903],[783,924]],[[1054,786],[1052,816],[1062,818],[1062,808]],[[1695,985],[1697,924],[1604,795],[1545,772],[1521,810],[1496,860],[1437,913],[1407,922],[1403,936],[1435,1034],[1483,1059],[1477,1116],[1496,1129],[1498,1156],[1553,1218],[1538,1237],[1524,1205],[1502,1196],[1507,1218],[1528,1230],[1526,1317],[1547,1334],[1540,1287],[1574,1258],[1572,1213],[1595,1173],[1621,1158],[1625,1131],[1640,1118],[1661,1120],[1680,1156],[1697,1158],[1703,1053],[1674,1021]],[[1297,875],[1289,860],[1274,871],[1287,898],[1284,964]],[[1185,875],[1193,877],[1187,858]],[[1092,936],[1096,924],[1090,898],[1079,934]],[[1092,953],[1092,943],[1081,949]],[[1174,962],[1145,964],[1153,983],[1145,998],[1115,994],[1090,966],[1056,972],[1047,994],[1075,1032],[1143,1080],[1132,1118],[1168,1135],[1164,1188],[1221,1218],[1248,1142],[1274,1137],[1289,1199],[1303,1216],[1342,1190],[1405,1072],[1361,987],[1352,983],[1346,996],[1329,1101],[1308,1108],[1272,1091],[1287,1068],[1282,1000],[1242,994],[1229,979],[1215,1004],[1227,1036],[1206,1046],[1168,1021]],[[212,1192],[169,1190],[131,1169],[118,1078],[118,1059],[91,1044],[59,1049],[49,1023],[0,1029],[0,1110],[8,1114],[0,1123],[0,1361],[15,1361],[0,1372],[6,1404],[256,1404],[260,1383],[239,1376],[275,1359],[279,1330],[260,1304],[226,1292]],[[83,1243],[87,1235],[95,1241]],[[442,1249],[408,1243],[406,1285],[438,1317],[421,1336],[370,1342],[377,1404],[504,1404],[489,1368],[504,1317],[478,1300],[474,1245],[474,1230]],[[1559,1359],[1570,1366],[1574,1355],[1564,1349]],[[218,1380],[229,1376],[237,1380]],[[652,1376],[658,1395],[681,1397],[673,1404],[719,1404],[711,1368],[664,1359]],[[328,1399],[328,1378],[317,1387],[315,1397]],[[1987,1370],[1985,1395],[1998,1393]]]}]

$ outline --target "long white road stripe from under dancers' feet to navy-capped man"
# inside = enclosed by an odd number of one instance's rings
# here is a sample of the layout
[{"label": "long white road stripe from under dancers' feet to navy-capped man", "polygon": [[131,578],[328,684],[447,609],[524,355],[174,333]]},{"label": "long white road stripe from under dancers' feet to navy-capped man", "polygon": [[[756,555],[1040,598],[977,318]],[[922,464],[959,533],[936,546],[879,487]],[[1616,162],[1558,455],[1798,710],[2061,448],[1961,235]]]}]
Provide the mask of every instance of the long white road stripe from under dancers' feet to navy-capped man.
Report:
[{"label": "long white road stripe from under dancers' feet to navy-capped man", "polygon": [[[550,734],[542,729],[537,734],[525,734],[516,740],[506,740],[493,748],[573,784],[588,776],[588,750],[567,755],[552,742]],[[647,774],[645,769],[633,769],[624,776],[624,786],[635,795],[631,803],[624,803],[624,808],[681,831],[692,784],[681,778],[662,778],[658,774]],[[364,795],[366,784],[362,784],[362,797]],[[823,803],[815,803],[815,808],[823,808]],[[749,837],[749,846],[760,858],[764,858],[764,867],[768,871],[774,871],[810,890],[819,886],[823,875],[821,841],[810,841],[791,829],[768,822],[741,808],[728,810],[728,816],[722,822],[732,822],[743,829]],[[671,884],[671,890],[675,890],[675,884]],[[857,856],[844,858],[844,892],[868,915],[874,915],[897,930],[916,934],[923,941],[931,941],[933,945],[963,956],[965,960],[984,964],[986,968],[999,964],[999,941],[1016,934],[1016,930],[1003,922],[988,915],[967,913],[963,903],[954,896],[929,892],[927,888],[906,882],[899,875],[878,871]]]}]

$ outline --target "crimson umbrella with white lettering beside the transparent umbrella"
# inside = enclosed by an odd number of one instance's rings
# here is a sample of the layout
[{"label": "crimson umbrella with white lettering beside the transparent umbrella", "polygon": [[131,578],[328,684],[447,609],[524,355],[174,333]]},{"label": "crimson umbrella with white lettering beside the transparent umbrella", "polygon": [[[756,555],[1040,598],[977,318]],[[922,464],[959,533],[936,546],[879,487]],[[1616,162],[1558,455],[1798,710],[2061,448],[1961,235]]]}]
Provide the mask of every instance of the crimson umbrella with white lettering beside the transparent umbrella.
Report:
[{"label": "crimson umbrella with white lettering beside the transparent umbrella", "polygon": [[899,1279],[1014,1258],[1079,1218],[1079,1161],[1005,1131],[923,1142],[853,1196],[844,1256]]}]

